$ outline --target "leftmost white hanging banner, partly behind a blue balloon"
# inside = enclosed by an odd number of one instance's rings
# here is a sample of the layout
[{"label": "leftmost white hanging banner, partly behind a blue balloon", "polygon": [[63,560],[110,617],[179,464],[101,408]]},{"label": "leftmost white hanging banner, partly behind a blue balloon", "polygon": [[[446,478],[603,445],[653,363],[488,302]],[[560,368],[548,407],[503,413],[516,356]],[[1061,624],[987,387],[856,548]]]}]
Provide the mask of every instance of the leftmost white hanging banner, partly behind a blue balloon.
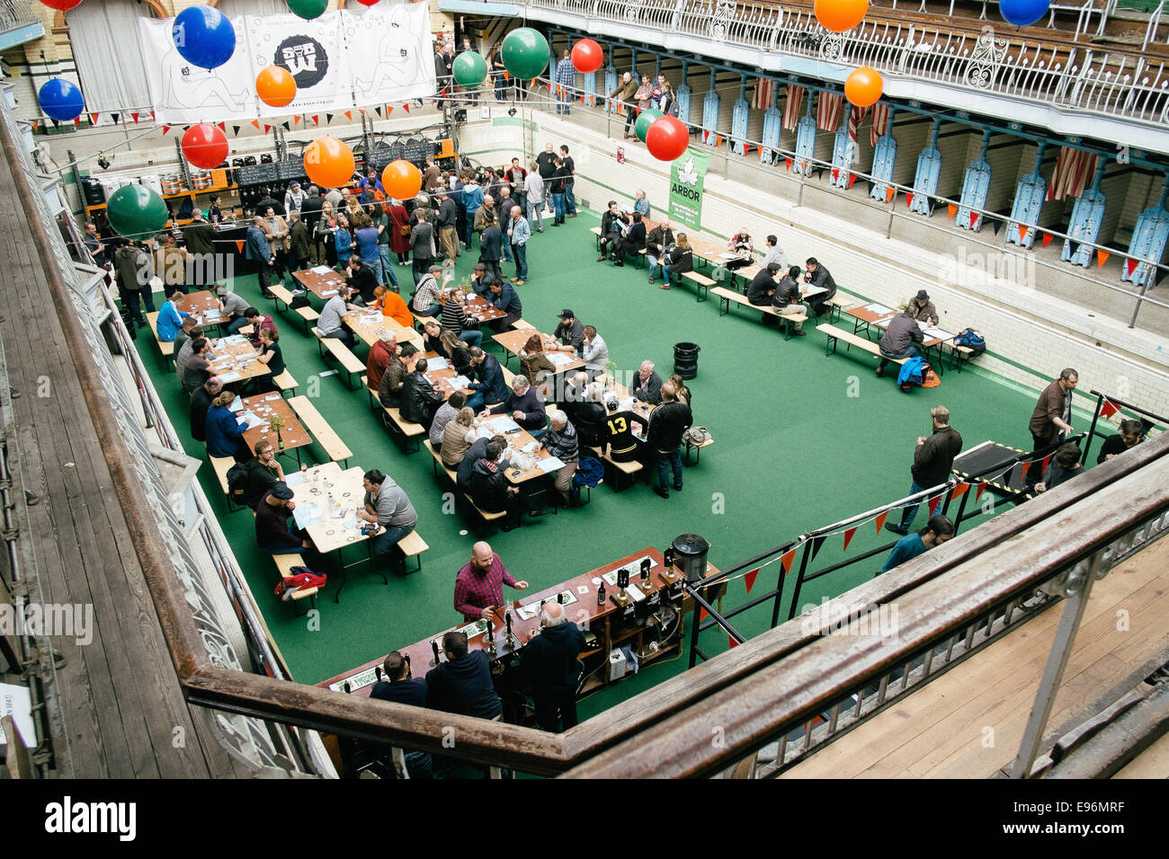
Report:
[{"label": "leftmost white hanging banner, partly behind a blue balloon", "polygon": [[231,19],[235,53],[217,69],[200,69],[179,55],[171,39],[173,18],[138,19],[144,74],[155,122],[189,125],[256,117],[256,76],[244,43],[244,19]]}]

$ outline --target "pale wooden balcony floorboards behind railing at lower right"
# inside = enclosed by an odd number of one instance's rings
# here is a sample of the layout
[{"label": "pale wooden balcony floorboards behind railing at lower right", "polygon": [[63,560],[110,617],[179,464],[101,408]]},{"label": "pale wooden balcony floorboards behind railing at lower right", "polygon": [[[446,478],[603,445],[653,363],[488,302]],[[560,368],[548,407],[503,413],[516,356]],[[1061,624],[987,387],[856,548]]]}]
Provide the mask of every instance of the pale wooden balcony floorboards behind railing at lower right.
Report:
[{"label": "pale wooden balcony floorboards behind railing at lower right", "polygon": [[[989,778],[1018,751],[1063,603],[850,732],[790,778]],[[1127,617],[1128,629],[1118,629]],[[1169,652],[1169,539],[1095,582],[1047,721],[1059,736]],[[1143,672],[1143,673],[1142,673]]]}]

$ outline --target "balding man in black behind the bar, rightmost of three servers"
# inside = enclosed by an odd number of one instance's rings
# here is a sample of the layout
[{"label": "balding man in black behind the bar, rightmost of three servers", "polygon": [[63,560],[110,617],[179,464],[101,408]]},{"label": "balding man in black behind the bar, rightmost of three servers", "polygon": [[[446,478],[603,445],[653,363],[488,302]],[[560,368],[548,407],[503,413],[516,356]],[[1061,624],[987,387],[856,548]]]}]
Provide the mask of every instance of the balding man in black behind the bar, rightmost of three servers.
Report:
[{"label": "balding man in black behind the bar, rightmost of three servers", "polygon": [[535,719],[544,730],[568,730],[577,723],[576,685],[584,651],[584,635],[565,617],[563,607],[546,602],[540,608],[540,635],[520,651],[521,683],[532,685]]}]

